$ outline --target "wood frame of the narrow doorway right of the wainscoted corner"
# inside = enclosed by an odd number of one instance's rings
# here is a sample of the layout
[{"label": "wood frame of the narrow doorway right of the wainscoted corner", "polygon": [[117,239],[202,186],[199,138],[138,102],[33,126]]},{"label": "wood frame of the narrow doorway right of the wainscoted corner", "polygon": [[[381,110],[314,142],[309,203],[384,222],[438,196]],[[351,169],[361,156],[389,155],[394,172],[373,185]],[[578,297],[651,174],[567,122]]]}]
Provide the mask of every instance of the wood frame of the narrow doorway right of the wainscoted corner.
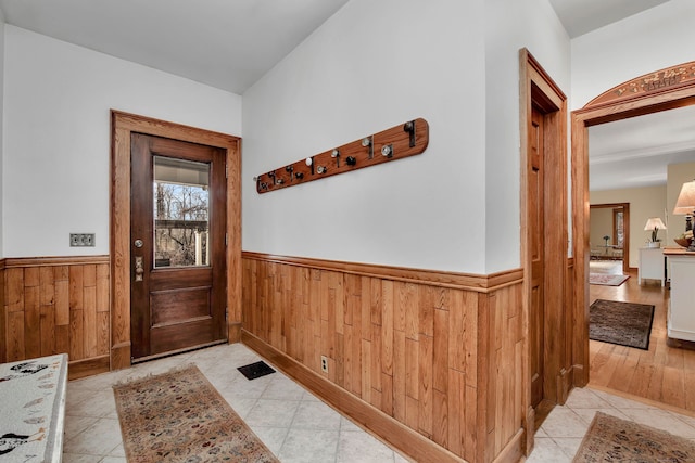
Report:
[{"label": "wood frame of the narrow doorway right of the wainscoted corner", "polygon": [[[528,125],[532,107],[544,113],[544,196],[553,197],[557,207],[546,207],[544,220],[551,223],[544,235],[544,399],[564,403],[569,388],[568,355],[566,346],[566,317],[563,308],[566,300],[565,274],[567,269],[567,97],[545,73],[527,49],[519,51],[519,127],[520,153],[520,221],[521,221],[521,266],[523,268],[522,313],[527,346],[523,359],[523,427],[527,430],[526,454],[533,448],[534,410],[531,407],[531,344],[529,310],[531,307],[531,234],[528,229]],[[549,308],[555,310],[548,312]]]}]

